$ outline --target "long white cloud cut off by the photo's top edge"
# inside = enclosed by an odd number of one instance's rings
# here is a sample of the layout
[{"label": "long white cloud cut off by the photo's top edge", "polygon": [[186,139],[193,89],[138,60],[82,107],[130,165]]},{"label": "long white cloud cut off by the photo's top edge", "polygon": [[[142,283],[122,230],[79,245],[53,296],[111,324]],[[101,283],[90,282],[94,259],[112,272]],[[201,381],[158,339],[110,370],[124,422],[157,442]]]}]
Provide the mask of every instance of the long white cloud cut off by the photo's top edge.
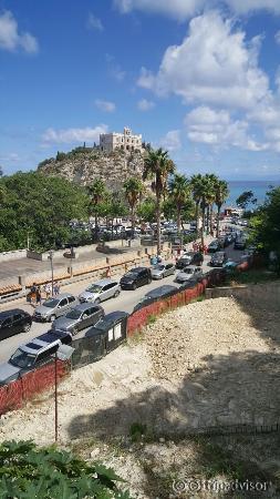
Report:
[{"label": "long white cloud cut off by the photo's top edge", "polygon": [[279,0],[114,0],[114,3],[122,13],[139,10],[167,16],[178,21],[185,21],[205,8],[212,9],[221,4],[237,14],[258,10],[280,13]]}]

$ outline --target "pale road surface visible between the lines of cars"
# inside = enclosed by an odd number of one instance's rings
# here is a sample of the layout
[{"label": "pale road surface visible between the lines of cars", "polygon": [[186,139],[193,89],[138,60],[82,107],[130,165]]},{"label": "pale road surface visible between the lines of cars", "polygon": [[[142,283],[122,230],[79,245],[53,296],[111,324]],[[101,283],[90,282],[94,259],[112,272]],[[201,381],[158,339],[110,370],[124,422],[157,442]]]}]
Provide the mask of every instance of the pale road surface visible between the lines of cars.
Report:
[{"label": "pale road surface visible between the lines of cars", "polygon": [[[232,245],[228,246],[226,248],[226,252],[227,252],[228,256],[231,259],[235,259],[236,262],[240,261],[240,256],[243,253],[243,252],[234,249]],[[208,265],[210,256],[211,255],[205,256],[205,262],[203,264],[204,272],[208,272],[210,268]],[[120,275],[120,276],[115,276],[114,278],[118,279],[121,277],[122,276]],[[63,293],[69,292],[76,296],[80,293],[82,293],[89,286],[90,283],[92,283],[92,278],[84,279],[84,281],[73,283],[73,284],[69,284],[66,286],[63,286],[62,292]],[[168,276],[160,281],[153,281],[149,285],[142,286],[142,287],[137,288],[136,291],[122,291],[122,293],[120,294],[120,296],[117,298],[107,299],[106,302],[103,302],[101,305],[104,308],[105,314],[108,314],[114,310],[124,310],[124,312],[132,313],[135,305],[143,298],[143,296],[148,291],[154,289],[158,286],[162,286],[163,284],[169,284],[169,285],[179,287],[179,284],[175,282],[175,276]],[[0,305],[0,310],[12,309],[12,308],[22,308],[22,309],[29,312],[31,315],[33,314],[33,310],[34,310],[33,305],[27,303],[24,298],[17,299],[12,303],[10,302],[10,303]],[[7,360],[13,354],[13,352],[18,348],[19,345],[27,343],[28,340],[45,333],[46,330],[49,330],[49,328],[50,328],[50,324],[48,324],[48,323],[35,323],[34,322],[32,324],[31,330],[29,333],[22,333],[20,335],[15,335],[10,338],[3,339],[1,342],[0,363]],[[86,332],[86,329],[81,332],[79,334],[79,336],[76,336],[76,337],[83,336],[83,334],[85,332]]]}]

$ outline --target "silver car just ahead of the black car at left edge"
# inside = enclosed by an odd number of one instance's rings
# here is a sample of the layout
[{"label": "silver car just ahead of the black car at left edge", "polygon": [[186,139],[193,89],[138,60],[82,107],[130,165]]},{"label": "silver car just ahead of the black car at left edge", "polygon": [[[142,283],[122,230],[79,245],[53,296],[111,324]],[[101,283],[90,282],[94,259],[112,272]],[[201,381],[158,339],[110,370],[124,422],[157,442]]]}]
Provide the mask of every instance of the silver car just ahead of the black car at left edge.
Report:
[{"label": "silver car just ahead of the black car at left edge", "polygon": [[40,305],[33,315],[33,318],[39,322],[53,322],[55,318],[66,314],[71,308],[77,305],[77,299],[70,293],[63,293],[53,298],[46,299],[43,305]]}]

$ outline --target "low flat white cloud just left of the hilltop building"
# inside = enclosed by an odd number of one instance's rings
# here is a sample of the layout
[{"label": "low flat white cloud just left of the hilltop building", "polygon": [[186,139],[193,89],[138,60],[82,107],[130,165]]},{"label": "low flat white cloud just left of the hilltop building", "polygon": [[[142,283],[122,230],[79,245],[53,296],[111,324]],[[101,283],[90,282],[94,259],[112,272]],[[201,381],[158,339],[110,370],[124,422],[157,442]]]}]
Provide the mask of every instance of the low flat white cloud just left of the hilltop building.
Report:
[{"label": "low flat white cloud just left of the hilltop building", "polygon": [[107,125],[101,124],[94,129],[48,129],[43,135],[43,143],[71,144],[73,142],[97,142],[101,133],[107,132]]}]

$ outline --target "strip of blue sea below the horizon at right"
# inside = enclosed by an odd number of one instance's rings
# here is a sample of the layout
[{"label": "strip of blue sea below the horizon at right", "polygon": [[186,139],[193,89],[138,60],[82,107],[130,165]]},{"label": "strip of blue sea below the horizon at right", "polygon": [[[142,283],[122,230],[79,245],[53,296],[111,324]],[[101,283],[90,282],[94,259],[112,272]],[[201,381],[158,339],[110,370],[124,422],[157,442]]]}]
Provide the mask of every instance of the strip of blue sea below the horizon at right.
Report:
[{"label": "strip of blue sea below the horizon at right", "polygon": [[[225,206],[236,206],[237,197],[245,191],[252,191],[255,197],[257,197],[257,205],[261,205],[266,200],[266,193],[271,187],[279,186],[280,181],[228,181],[230,194],[225,203]],[[248,205],[248,208],[252,206]]]}]

